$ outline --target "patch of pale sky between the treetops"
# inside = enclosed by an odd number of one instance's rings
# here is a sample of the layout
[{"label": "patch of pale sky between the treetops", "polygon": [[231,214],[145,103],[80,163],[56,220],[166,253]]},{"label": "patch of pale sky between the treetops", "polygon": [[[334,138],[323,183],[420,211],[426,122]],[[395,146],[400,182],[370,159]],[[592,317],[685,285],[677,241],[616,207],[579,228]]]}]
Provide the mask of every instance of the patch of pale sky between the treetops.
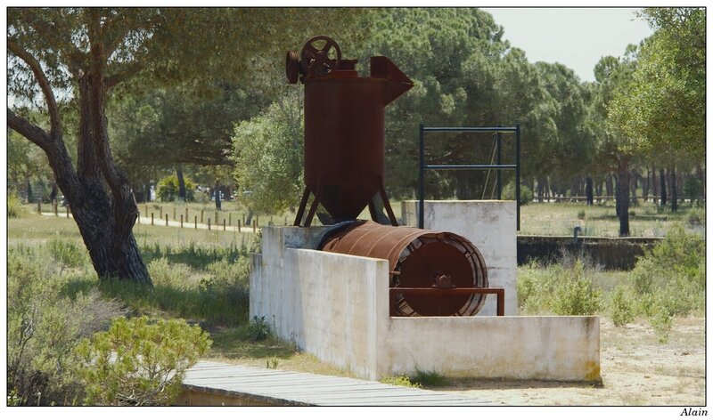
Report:
[{"label": "patch of pale sky between the treetops", "polygon": [[604,56],[624,55],[652,28],[632,8],[482,8],[504,28],[504,38],[525,51],[530,62],[559,62],[582,81],[594,81]]}]

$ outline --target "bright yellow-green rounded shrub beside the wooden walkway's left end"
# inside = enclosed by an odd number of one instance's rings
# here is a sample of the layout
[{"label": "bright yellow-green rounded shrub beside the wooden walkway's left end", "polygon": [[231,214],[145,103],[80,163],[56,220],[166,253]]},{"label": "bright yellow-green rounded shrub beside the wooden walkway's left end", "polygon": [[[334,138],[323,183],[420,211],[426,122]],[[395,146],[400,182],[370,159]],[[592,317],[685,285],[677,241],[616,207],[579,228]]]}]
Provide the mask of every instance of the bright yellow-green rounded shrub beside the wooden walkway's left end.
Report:
[{"label": "bright yellow-green rounded shrub beside the wooden walkway's left end", "polygon": [[182,391],[185,371],[210,347],[208,333],[183,319],[116,319],[77,347],[86,404],[169,405]]}]

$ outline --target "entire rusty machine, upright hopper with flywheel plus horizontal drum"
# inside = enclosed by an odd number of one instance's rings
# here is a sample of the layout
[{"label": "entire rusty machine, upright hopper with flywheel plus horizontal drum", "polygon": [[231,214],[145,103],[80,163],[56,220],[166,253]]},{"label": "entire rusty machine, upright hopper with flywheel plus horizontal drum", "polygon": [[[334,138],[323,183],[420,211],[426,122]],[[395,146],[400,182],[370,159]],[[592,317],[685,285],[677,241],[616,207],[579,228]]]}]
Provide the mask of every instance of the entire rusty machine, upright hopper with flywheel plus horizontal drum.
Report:
[{"label": "entire rusty machine, upright hopper with flywheel plus horizontal drum", "polygon": [[[488,288],[486,264],[469,240],[449,232],[398,227],[384,189],[384,110],[413,82],[386,57],[372,57],[369,77],[339,45],[315,36],[302,51],[287,52],[288,82],[305,85],[305,190],[295,226],[310,226],[319,204],[337,222],[319,249],[389,261],[392,316],[474,315]],[[315,198],[304,220],[309,196]],[[392,226],[356,221],[379,194]]]}]

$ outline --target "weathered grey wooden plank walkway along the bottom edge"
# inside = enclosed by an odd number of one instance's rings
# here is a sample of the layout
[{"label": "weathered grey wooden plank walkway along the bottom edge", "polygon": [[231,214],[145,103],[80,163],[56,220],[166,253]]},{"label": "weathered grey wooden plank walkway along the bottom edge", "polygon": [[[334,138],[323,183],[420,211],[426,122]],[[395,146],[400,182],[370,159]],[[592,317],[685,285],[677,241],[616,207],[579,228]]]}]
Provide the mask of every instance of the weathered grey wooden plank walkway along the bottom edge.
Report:
[{"label": "weathered grey wooden plank walkway along the bottom edge", "polygon": [[338,376],[201,361],[186,371],[186,405],[276,406],[482,406],[448,392],[434,392]]}]

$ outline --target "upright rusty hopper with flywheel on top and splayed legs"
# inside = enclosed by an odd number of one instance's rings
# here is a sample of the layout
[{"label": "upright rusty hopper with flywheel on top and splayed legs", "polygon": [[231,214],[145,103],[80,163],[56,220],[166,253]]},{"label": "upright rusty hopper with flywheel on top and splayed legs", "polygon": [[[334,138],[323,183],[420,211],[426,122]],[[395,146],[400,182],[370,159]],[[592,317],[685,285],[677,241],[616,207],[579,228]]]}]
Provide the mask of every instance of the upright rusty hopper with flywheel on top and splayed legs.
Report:
[{"label": "upright rusty hopper with flywheel on top and splayed legs", "polygon": [[[324,46],[318,48],[318,41]],[[306,189],[295,225],[302,221],[310,193],[315,200],[305,226],[320,203],[336,222],[355,220],[366,206],[374,215],[376,194],[396,225],[383,186],[384,109],[413,82],[386,57],[373,57],[369,77],[359,77],[356,61],[342,61],[340,54],[326,36],[307,41],[300,63],[296,52],[287,54],[288,80],[296,82],[301,70],[305,85]]]}]

